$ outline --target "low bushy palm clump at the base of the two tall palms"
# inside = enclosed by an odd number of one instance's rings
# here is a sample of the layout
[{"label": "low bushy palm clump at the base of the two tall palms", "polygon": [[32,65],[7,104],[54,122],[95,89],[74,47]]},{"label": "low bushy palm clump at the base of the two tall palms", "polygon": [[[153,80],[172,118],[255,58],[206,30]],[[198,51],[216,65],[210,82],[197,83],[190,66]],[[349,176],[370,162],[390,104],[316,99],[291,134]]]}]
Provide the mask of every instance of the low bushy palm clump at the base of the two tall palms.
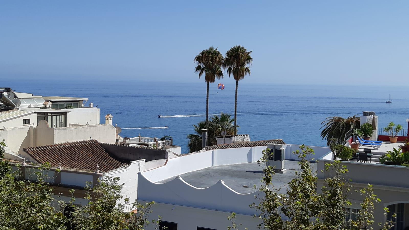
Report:
[{"label": "low bushy palm clump at the base of the two tall palms", "polygon": [[[234,134],[234,126],[232,124],[233,122],[234,119],[232,119],[231,115],[227,113],[220,113],[220,116],[214,115],[213,117],[211,117],[211,121],[209,122],[209,126],[207,127],[207,134],[209,137],[207,139],[207,145],[210,146],[217,144],[215,137],[222,135],[222,131],[226,131],[227,135]],[[187,147],[189,148],[190,153],[202,149],[202,129],[206,129],[206,122],[199,122],[197,125],[193,125],[193,127],[195,130],[195,134],[187,135]]]}]

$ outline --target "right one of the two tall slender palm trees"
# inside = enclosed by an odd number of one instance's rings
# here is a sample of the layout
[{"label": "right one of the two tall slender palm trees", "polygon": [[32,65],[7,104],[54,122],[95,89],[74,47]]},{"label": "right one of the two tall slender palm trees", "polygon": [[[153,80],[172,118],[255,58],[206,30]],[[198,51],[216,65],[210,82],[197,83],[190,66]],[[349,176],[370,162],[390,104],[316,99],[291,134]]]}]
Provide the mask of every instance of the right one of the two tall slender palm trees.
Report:
[{"label": "right one of the two tall slender palm trees", "polygon": [[234,99],[234,134],[237,134],[237,88],[238,81],[244,78],[246,74],[250,75],[249,66],[252,64],[253,59],[250,56],[252,52],[247,52],[247,49],[241,45],[236,45],[226,53],[225,62],[223,67],[227,68],[227,73],[233,75],[236,80],[236,97]]}]

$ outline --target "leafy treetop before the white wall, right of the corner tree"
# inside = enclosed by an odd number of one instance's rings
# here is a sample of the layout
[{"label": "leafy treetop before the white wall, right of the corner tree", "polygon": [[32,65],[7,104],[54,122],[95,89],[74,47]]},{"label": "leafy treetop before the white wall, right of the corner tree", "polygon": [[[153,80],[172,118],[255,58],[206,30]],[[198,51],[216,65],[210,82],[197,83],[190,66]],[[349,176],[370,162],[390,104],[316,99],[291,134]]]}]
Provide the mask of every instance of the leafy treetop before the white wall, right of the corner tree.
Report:
[{"label": "leafy treetop before the white wall, right of the corner tree", "polygon": [[[149,223],[159,223],[158,220],[148,221],[148,213],[154,202],[140,204],[135,201],[130,203],[129,198],[124,203],[119,201],[121,189],[124,184],[118,184],[119,177],[106,177],[99,185],[90,187],[85,199],[88,203],[83,206],[72,205],[75,198],[72,197],[71,226],[81,230],[143,230]],[[137,212],[126,212],[137,210]]]}]

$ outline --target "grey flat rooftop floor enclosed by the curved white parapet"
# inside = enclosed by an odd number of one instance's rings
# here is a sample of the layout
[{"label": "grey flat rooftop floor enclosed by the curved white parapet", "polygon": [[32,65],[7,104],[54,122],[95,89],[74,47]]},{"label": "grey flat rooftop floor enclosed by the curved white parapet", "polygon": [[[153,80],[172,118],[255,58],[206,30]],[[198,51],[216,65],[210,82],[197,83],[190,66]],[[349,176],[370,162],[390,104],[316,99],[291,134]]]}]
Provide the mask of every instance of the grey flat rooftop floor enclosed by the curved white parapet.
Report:
[{"label": "grey flat rooftop floor enclosed by the curved white parapet", "polygon": [[[299,170],[298,161],[285,160],[285,169],[283,174],[274,174],[272,183],[276,189],[281,189],[281,193],[285,193],[285,186],[294,178],[294,170]],[[311,163],[313,171],[317,170],[317,164]],[[210,187],[217,183],[218,180],[223,180],[225,185],[234,191],[242,194],[256,191],[254,185],[260,187],[261,178],[263,178],[262,167],[256,162],[242,163],[234,165],[220,165],[199,169],[179,175],[184,181],[198,188]],[[168,178],[157,183],[165,183],[173,180],[174,177]],[[248,187],[243,187],[248,186]]]}]

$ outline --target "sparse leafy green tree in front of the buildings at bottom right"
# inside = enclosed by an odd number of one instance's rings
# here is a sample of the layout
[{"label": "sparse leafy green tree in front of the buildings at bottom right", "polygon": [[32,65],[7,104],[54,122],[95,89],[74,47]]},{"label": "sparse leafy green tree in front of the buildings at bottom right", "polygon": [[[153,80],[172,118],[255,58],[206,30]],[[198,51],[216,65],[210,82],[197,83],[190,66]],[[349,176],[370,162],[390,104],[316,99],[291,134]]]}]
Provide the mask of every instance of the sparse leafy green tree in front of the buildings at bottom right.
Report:
[{"label": "sparse leafy green tree in front of the buildings at bottom right", "polygon": [[[371,229],[368,226],[374,223],[374,203],[380,201],[373,194],[372,186],[368,185],[359,191],[364,196],[359,218],[346,222],[344,207],[351,205],[347,196],[352,188],[346,177],[348,169],[339,161],[326,163],[323,172],[328,177],[324,180],[325,186],[321,187],[321,193],[317,193],[317,175],[310,163],[314,151],[304,145],[300,149],[301,152],[294,152],[299,157],[300,170],[295,172],[294,179],[288,183],[285,194],[281,194],[280,190],[272,185],[274,168],[265,166],[270,149],[263,151],[263,158],[258,164],[263,167],[264,176],[261,180],[263,184],[259,190],[264,194],[257,198],[259,201],[257,204],[250,205],[258,211],[254,217],[261,220],[257,227],[266,230]],[[387,208],[384,210],[388,212]],[[285,214],[288,220],[283,220],[281,214]],[[229,230],[240,228],[240,224],[235,222],[234,213],[228,219],[232,221]],[[387,221],[382,225],[382,230],[390,229],[392,226],[393,221]]]}]

